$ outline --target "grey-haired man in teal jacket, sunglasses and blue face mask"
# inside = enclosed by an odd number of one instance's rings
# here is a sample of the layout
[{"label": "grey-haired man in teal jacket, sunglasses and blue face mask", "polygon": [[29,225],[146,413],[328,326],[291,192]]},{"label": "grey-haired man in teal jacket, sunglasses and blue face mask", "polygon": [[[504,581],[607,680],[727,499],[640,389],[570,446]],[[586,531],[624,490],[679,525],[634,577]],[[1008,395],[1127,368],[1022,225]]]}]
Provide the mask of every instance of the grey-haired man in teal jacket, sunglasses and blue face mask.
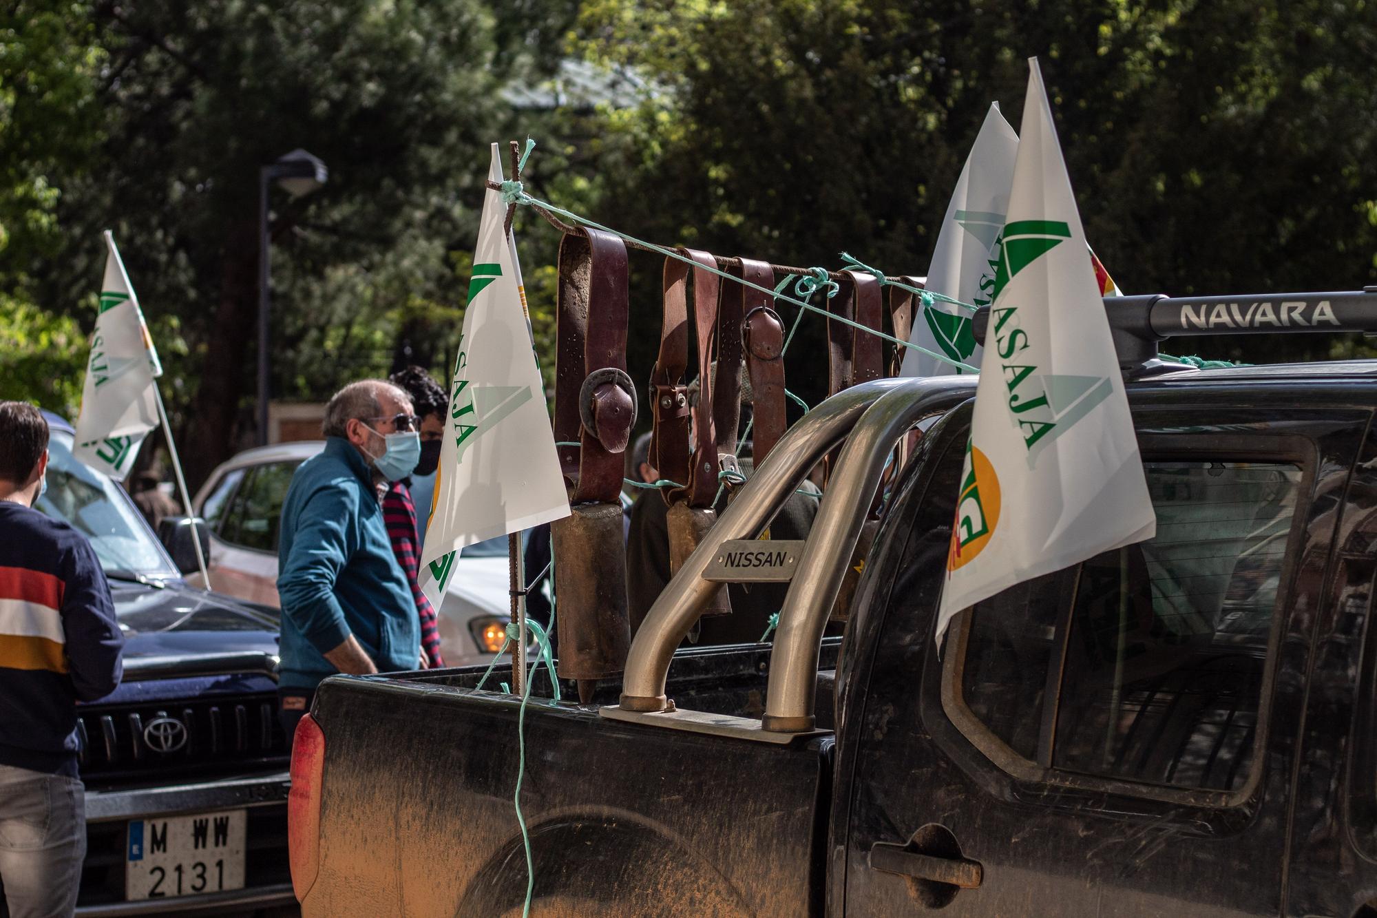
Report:
[{"label": "grey-haired man in teal jacket, sunglasses and blue face mask", "polygon": [[325,449],[297,466],[282,502],[278,700],[288,736],[325,677],[412,670],[421,652],[381,506],[420,456],[412,401],[391,383],[350,383],[326,405],[322,433]]}]

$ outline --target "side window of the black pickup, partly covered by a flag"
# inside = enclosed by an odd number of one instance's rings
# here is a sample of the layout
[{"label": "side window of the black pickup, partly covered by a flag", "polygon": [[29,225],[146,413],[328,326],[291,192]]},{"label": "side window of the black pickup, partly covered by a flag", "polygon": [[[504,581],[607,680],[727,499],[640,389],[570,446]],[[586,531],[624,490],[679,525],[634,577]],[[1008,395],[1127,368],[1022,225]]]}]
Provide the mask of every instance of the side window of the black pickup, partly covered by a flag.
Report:
[{"label": "side window of the black pickup, partly covered by a flag", "polygon": [[978,747],[1005,747],[993,761],[1012,751],[1053,779],[1237,791],[1257,740],[1301,469],[1144,469],[1154,539],[963,613],[961,660],[947,662],[960,671],[953,721]]}]

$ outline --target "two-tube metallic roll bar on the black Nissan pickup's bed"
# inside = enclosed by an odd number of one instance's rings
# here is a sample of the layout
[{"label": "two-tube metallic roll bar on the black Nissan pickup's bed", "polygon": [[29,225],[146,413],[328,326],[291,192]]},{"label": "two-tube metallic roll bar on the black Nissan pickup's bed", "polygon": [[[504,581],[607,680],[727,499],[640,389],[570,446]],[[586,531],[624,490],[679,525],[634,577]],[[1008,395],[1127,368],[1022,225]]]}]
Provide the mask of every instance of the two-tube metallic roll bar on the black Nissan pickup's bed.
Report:
[{"label": "two-tube metallic roll bar on the black Nissan pickup's bed", "polygon": [[822,498],[800,564],[804,569],[789,587],[771,655],[770,700],[761,726],[775,733],[812,729],[812,682],[822,630],[885,455],[917,419],[950,408],[974,391],[975,376],[877,379],[837,393],[804,415],[655,600],[632,640],[618,708],[666,710],[665,680],[675,648],[722,587],[704,579],[716,551],[724,542],[759,536],[808,471],[855,427]]}]

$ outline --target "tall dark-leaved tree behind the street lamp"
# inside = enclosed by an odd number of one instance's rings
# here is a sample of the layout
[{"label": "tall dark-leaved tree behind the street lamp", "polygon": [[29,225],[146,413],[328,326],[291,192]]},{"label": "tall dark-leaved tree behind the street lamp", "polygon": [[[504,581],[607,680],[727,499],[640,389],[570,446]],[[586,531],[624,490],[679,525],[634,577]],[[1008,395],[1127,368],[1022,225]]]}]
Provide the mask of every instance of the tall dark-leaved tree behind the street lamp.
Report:
[{"label": "tall dark-leaved tree behind the street lamp", "polygon": [[191,481],[251,427],[259,167],[297,146],[330,167],[318,193],[273,197],[275,390],[386,371],[408,317],[457,306],[445,254],[472,245],[508,117],[496,90],[549,40],[515,17],[479,0],[95,8],[105,141],[58,208],[65,270],[40,296],[72,313],[116,230],[154,335],[169,316],[187,339],[164,393]]}]

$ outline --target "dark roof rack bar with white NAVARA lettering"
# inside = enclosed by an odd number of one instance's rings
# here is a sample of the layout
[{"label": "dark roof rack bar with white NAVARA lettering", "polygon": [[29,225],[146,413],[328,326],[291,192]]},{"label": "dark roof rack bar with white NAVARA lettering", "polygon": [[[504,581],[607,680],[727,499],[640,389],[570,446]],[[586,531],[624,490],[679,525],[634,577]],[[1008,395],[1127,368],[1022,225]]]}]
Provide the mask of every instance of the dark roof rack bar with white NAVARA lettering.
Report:
[{"label": "dark roof rack bar with white NAVARA lettering", "polygon": [[[1125,376],[1150,376],[1186,365],[1158,358],[1157,343],[1201,335],[1275,335],[1293,332],[1365,332],[1377,335],[1377,287],[1315,294],[1242,294],[1228,296],[1106,296],[1104,312]],[[985,345],[990,307],[974,320]]]}]

